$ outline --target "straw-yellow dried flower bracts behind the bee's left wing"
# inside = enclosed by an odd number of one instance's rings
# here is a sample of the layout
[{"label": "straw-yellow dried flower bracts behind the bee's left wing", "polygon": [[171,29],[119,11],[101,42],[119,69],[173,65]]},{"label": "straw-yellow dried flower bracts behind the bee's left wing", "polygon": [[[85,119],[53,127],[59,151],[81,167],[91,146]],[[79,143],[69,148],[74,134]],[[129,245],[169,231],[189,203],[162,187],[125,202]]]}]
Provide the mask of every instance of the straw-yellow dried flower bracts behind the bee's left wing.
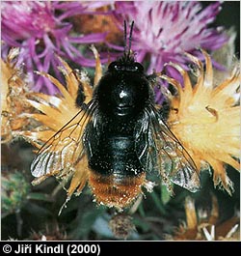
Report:
[{"label": "straw-yellow dried flower bracts behind the bee's left wing", "polygon": [[[97,83],[98,77],[101,76],[101,66],[95,48],[92,47],[92,49],[96,59],[96,75],[94,83]],[[40,126],[31,130],[22,131],[21,135],[39,149],[43,144],[50,146],[51,138],[53,138],[53,136],[58,136],[59,134],[60,136],[67,137],[63,141],[63,143],[66,143],[67,151],[62,152],[63,160],[67,163],[67,168],[63,170],[62,166],[55,165],[51,172],[34,174],[37,178],[34,180],[33,185],[40,184],[49,176],[55,176],[58,180],[63,182],[63,185],[71,179],[70,186],[67,189],[68,201],[73,192],[76,191],[77,194],[79,194],[82,191],[88,180],[88,166],[87,158],[85,156],[82,157],[76,165],[72,166],[73,156],[78,156],[79,151],[83,147],[81,143],[79,143],[79,146],[76,146],[75,141],[78,140],[81,130],[84,130],[87,124],[87,119],[83,119],[83,122],[78,124],[78,129],[71,132],[70,137],[68,128],[71,128],[73,117],[80,112],[80,108],[76,104],[78,91],[82,90],[84,97],[83,105],[85,105],[85,103],[92,99],[93,87],[91,86],[90,79],[85,71],[72,71],[64,60],[61,58],[59,58],[59,60],[62,63],[62,67],[59,69],[66,78],[67,86],[61,84],[58,79],[48,73],[39,73],[40,75],[47,77],[60,90],[61,95],[48,96],[34,92],[29,94],[26,101],[32,105],[38,113],[35,112],[29,114],[28,118],[38,121]],[[64,128],[65,126],[67,126],[67,129],[63,129],[60,133],[56,133],[60,128]],[[69,140],[71,141],[70,144]],[[64,145],[62,144],[58,146],[51,144],[50,150],[55,154],[61,151],[60,148],[63,148],[63,146]]]}]

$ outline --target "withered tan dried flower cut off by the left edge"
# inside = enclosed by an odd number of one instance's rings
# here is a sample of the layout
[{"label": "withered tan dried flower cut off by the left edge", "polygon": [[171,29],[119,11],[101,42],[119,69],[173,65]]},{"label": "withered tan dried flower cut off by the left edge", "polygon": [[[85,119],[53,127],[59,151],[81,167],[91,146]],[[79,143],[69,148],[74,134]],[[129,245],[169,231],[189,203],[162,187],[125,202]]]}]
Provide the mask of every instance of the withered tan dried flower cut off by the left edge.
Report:
[{"label": "withered tan dried flower cut off by the left edge", "polygon": [[26,95],[29,93],[27,77],[21,68],[16,69],[15,63],[18,48],[13,48],[4,62],[1,60],[1,142],[8,143],[17,136],[20,130],[27,129],[30,120],[25,113],[33,108],[28,104]]}]

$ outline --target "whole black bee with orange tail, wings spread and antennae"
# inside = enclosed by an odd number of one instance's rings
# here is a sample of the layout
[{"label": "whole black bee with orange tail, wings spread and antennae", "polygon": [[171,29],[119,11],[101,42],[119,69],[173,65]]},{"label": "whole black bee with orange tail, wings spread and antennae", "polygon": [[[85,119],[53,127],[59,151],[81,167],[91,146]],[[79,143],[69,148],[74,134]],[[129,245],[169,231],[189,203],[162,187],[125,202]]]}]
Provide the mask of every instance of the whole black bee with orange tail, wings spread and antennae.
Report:
[{"label": "whole black bee with orange tail, wings spread and antennae", "polygon": [[[98,204],[122,210],[154,185],[147,176],[158,174],[162,183],[190,191],[200,188],[196,165],[160,114],[153,81],[127,45],[124,52],[94,86],[86,102],[81,87],[76,97],[79,112],[40,149],[31,164],[37,178],[73,172],[78,191],[88,181]],[[76,187],[76,186],[75,186]]]}]

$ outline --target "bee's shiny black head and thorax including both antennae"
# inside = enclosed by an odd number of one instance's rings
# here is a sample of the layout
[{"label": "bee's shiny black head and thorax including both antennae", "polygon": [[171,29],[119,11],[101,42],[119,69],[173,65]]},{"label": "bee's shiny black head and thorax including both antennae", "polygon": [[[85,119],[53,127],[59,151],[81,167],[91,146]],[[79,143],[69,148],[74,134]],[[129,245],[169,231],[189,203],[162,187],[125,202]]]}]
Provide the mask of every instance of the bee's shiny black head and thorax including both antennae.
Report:
[{"label": "bee's shiny black head and thorax including both antennae", "polygon": [[135,118],[153,98],[147,75],[141,63],[136,62],[131,51],[131,23],[129,43],[126,43],[126,22],[124,21],[124,52],[112,62],[94,90],[99,109],[112,118]]}]

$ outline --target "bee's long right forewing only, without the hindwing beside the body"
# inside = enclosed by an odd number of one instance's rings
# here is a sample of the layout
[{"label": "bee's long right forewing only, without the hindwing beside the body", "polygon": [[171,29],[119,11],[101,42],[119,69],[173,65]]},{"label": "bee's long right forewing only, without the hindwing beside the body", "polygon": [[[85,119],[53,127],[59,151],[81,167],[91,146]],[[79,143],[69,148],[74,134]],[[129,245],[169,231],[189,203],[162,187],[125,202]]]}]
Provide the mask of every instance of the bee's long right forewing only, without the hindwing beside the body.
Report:
[{"label": "bee's long right forewing only, without the hindwing beside the body", "polygon": [[174,133],[152,109],[152,137],[157,150],[157,165],[164,182],[180,185],[191,192],[200,189],[198,169]]}]

